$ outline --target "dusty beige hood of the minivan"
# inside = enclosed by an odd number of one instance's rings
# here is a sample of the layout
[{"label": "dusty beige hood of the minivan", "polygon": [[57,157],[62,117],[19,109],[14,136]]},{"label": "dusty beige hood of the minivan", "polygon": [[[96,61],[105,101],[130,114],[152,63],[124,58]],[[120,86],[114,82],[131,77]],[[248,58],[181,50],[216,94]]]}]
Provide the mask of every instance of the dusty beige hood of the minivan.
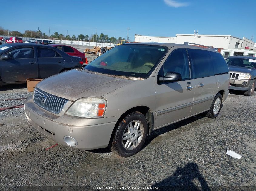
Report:
[{"label": "dusty beige hood of the minivan", "polygon": [[47,93],[75,101],[81,97],[101,97],[132,82],[134,80],[70,70],[45,78],[36,87]]}]

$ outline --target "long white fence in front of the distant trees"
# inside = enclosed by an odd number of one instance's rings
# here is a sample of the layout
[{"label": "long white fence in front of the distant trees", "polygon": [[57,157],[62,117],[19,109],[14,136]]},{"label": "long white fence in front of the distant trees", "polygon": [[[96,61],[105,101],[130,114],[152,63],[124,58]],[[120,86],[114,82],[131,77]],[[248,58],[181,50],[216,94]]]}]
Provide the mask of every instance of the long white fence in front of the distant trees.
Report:
[{"label": "long white fence in front of the distant trees", "polygon": [[[0,36],[4,38],[13,37],[13,36],[4,36],[4,35],[0,35]],[[22,38],[23,42],[28,39],[32,39],[31,37],[20,37],[20,38]],[[55,44],[70,44],[70,45],[77,45],[77,46],[101,46],[101,47],[112,46],[113,47],[116,45],[114,43],[96,43],[96,42],[86,42],[86,41],[77,41],[77,40],[52,40],[52,39],[42,39],[42,40],[51,40]]]}]

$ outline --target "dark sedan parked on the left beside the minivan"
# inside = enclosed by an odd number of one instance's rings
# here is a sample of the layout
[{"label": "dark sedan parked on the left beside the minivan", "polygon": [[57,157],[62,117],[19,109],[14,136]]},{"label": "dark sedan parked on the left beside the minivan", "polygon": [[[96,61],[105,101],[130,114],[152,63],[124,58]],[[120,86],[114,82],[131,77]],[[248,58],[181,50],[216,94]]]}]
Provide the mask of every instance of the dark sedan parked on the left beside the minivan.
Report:
[{"label": "dark sedan parked on the left beside the minivan", "polygon": [[26,83],[27,78],[49,76],[80,68],[82,59],[35,43],[0,45],[0,86]]}]

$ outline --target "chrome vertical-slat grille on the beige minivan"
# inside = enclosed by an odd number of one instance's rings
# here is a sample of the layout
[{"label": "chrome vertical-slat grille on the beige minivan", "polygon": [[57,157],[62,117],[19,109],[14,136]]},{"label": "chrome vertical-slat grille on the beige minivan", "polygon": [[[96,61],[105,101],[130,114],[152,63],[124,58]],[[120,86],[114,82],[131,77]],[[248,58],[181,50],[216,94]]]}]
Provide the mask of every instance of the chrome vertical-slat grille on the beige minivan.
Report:
[{"label": "chrome vertical-slat grille on the beige minivan", "polygon": [[39,88],[35,88],[33,100],[39,107],[55,114],[59,114],[68,102],[65,98],[49,94]]}]

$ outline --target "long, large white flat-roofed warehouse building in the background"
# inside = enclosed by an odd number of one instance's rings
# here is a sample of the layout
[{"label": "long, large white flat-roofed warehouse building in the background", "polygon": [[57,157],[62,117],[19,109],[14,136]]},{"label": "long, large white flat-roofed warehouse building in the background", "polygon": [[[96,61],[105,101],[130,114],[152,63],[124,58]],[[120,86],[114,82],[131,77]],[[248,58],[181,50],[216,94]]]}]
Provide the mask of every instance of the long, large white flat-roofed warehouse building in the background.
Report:
[{"label": "long, large white flat-roofed warehouse building in the background", "polygon": [[176,37],[153,37],[135,34],[135,42],[160,42],[160,43],[176,43],[184,42],[196,43],[205,46],[213,46],[215,48],[233,49],[245,48],[246,46],[254,46],[254,42],[243,37],[243,39],[233,37],[231,35],[208,35],[208,34],[176,34]]}]

